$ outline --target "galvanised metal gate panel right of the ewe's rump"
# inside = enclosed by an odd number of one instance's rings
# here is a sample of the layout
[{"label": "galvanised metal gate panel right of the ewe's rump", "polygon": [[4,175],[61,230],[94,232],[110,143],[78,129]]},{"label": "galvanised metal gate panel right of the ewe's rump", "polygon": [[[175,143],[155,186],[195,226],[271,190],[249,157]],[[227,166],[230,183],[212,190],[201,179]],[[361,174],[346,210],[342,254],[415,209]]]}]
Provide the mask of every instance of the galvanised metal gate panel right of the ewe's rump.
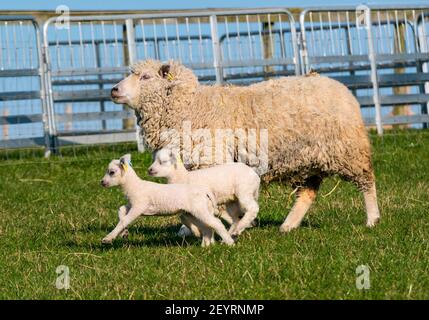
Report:
[{"label": "galvanised metal gate panel right of the ewe's rump", "polygon": [[[426,126],[428,17],[429,7],[304,10],[303,70],[314,69],[346,84],[366,109],[365,122],[375,124],[380,134],[383,125]],[[370,106],[375,108],[366,108]],[[409,106],[402,109],[416,114],[396,114],[398,106]]]}]

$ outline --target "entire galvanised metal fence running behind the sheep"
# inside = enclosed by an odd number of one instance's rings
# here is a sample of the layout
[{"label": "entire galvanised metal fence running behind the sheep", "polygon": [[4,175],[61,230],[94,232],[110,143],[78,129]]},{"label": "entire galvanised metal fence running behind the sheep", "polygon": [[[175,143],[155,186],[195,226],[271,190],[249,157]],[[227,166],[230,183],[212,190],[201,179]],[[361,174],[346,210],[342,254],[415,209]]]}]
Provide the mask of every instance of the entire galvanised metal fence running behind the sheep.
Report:
[{"label": "entire galvanised metal fence running behind the sheep", "polygon": [[219,84],[315,70],[346,84],[380,134],[426,127],[428,28],[429,6],[310,8],[299,23],[283,8],[53,17],[42,37],[32,17],[3,17],[0,148],[135,141],[134,114],[110,88],[147,58]]}]

